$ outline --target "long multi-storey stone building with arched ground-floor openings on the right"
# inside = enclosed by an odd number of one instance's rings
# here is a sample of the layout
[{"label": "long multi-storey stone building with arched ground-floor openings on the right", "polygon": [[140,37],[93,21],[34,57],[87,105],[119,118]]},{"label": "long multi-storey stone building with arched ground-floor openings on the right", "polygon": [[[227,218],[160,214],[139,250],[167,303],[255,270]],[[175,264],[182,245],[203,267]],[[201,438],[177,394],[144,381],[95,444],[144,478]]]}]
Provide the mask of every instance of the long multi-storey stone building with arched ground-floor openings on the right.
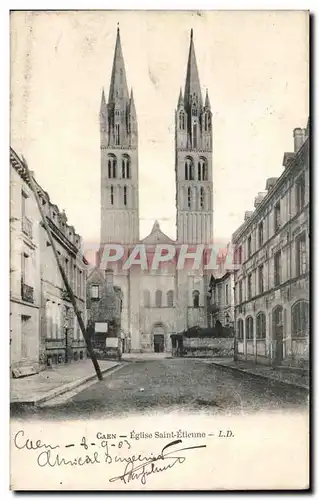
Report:
[{"label": "long multi-storey stone building with arched ground-floor openings on the right", "polygon": [[281,176],[233,234],[237,359],[306,366],[309,359],[309,120],[294,130]]}]

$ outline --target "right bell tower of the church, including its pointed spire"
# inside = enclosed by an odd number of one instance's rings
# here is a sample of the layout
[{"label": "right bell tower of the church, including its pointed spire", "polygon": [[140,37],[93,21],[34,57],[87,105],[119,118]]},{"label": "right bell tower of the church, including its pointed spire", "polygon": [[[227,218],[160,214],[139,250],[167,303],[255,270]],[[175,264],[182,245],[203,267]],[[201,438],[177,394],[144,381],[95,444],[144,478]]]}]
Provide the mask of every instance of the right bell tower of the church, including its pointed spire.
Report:
[{"label": "right bell tower of the church, including its pointed spire", "polygon": [[213,241],[212,112],[208,91],[203,103],[193,30],[184,95],[175,112],[177,241]]}]

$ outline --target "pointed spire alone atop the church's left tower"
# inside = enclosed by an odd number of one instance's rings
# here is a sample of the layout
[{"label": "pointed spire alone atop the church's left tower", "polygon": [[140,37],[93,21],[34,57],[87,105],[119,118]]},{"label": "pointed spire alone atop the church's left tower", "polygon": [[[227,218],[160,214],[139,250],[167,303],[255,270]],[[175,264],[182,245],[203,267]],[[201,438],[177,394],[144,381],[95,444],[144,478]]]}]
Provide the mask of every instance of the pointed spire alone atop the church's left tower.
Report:
[{"label": "pointed spire alone atop the church's left tower", "polygon": [[120,28],[117,27],[116,44],[113,59],[113,68],[109,92],[109,104],[114,104],[118,99],[129,98],[124,58],[121,46]]}]

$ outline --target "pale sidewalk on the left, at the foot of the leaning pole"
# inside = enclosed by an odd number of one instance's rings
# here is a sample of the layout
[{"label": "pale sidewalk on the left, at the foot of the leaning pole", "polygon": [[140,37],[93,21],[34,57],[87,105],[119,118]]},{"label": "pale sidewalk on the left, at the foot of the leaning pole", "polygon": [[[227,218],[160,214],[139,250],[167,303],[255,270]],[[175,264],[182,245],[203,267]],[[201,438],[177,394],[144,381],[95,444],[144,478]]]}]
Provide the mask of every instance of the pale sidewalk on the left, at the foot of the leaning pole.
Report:
[{"label": "pale sidewalk on the left, at the foot of the leaning pole", "polygon": [[[99,361],[102,373],[119,365],[117,361]],[[35,405],[97,379],[91,359],[56,365],[30,377],[10,380],[11,404]]]}]

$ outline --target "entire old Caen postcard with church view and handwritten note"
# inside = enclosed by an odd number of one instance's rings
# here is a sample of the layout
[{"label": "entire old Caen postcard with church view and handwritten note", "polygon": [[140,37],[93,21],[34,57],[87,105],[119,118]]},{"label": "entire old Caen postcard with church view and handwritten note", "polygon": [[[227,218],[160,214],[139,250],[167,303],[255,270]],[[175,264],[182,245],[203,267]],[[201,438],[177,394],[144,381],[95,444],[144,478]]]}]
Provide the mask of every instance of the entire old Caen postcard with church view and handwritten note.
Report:
[{"label": "entire old Caen postcard with church view and handwritten note", "polygon": [[10,17],[10,489],[307,490],[309,12]]}]

